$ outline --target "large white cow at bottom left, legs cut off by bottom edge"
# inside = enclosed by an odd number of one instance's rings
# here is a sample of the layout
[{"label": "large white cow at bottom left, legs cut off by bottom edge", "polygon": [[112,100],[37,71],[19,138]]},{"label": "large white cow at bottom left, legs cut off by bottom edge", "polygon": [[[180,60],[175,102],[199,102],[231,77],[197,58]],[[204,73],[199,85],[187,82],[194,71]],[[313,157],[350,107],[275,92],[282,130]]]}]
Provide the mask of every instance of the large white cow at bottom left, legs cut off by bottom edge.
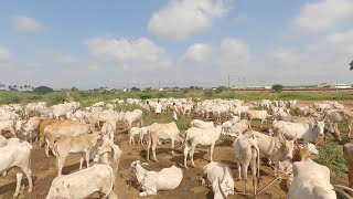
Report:
[{"label": "large white cow at bottom left, legs cut off by bottom edge", "polygon": [[74,174],[53,179],[46,199],[88,198],[94,192],[100,197],[117,199],[114,192],[115,175],[107,165],[94,165]]}]

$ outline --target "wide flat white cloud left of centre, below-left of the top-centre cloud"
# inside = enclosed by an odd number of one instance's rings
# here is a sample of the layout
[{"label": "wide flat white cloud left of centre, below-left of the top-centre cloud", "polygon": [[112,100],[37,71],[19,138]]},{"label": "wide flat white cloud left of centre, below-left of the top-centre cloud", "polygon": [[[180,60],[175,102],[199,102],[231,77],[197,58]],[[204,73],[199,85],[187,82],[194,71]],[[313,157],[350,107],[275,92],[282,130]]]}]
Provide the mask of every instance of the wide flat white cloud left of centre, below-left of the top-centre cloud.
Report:
[{"label": "wide flat white cloud left of centre, below-left of the top-centre cloud", "polygon": [[165,69],[171,61],[165,50],[146,38],[137,40],[95,38],[86,42],[90,54],[100,61],[142,69]]}]

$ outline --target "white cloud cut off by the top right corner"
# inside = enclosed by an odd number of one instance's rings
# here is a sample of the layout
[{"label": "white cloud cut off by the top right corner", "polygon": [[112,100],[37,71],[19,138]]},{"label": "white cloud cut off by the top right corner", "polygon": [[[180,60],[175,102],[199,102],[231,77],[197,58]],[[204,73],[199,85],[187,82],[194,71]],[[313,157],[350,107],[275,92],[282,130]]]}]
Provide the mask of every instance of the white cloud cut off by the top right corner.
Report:
[{"label": "white cloud cut off by the top right corner", "polygon": [[352,0],[319,0],[306,3],[292,21],[295,30],[315,32],[327,30],[339,20],[353,14]]}]

